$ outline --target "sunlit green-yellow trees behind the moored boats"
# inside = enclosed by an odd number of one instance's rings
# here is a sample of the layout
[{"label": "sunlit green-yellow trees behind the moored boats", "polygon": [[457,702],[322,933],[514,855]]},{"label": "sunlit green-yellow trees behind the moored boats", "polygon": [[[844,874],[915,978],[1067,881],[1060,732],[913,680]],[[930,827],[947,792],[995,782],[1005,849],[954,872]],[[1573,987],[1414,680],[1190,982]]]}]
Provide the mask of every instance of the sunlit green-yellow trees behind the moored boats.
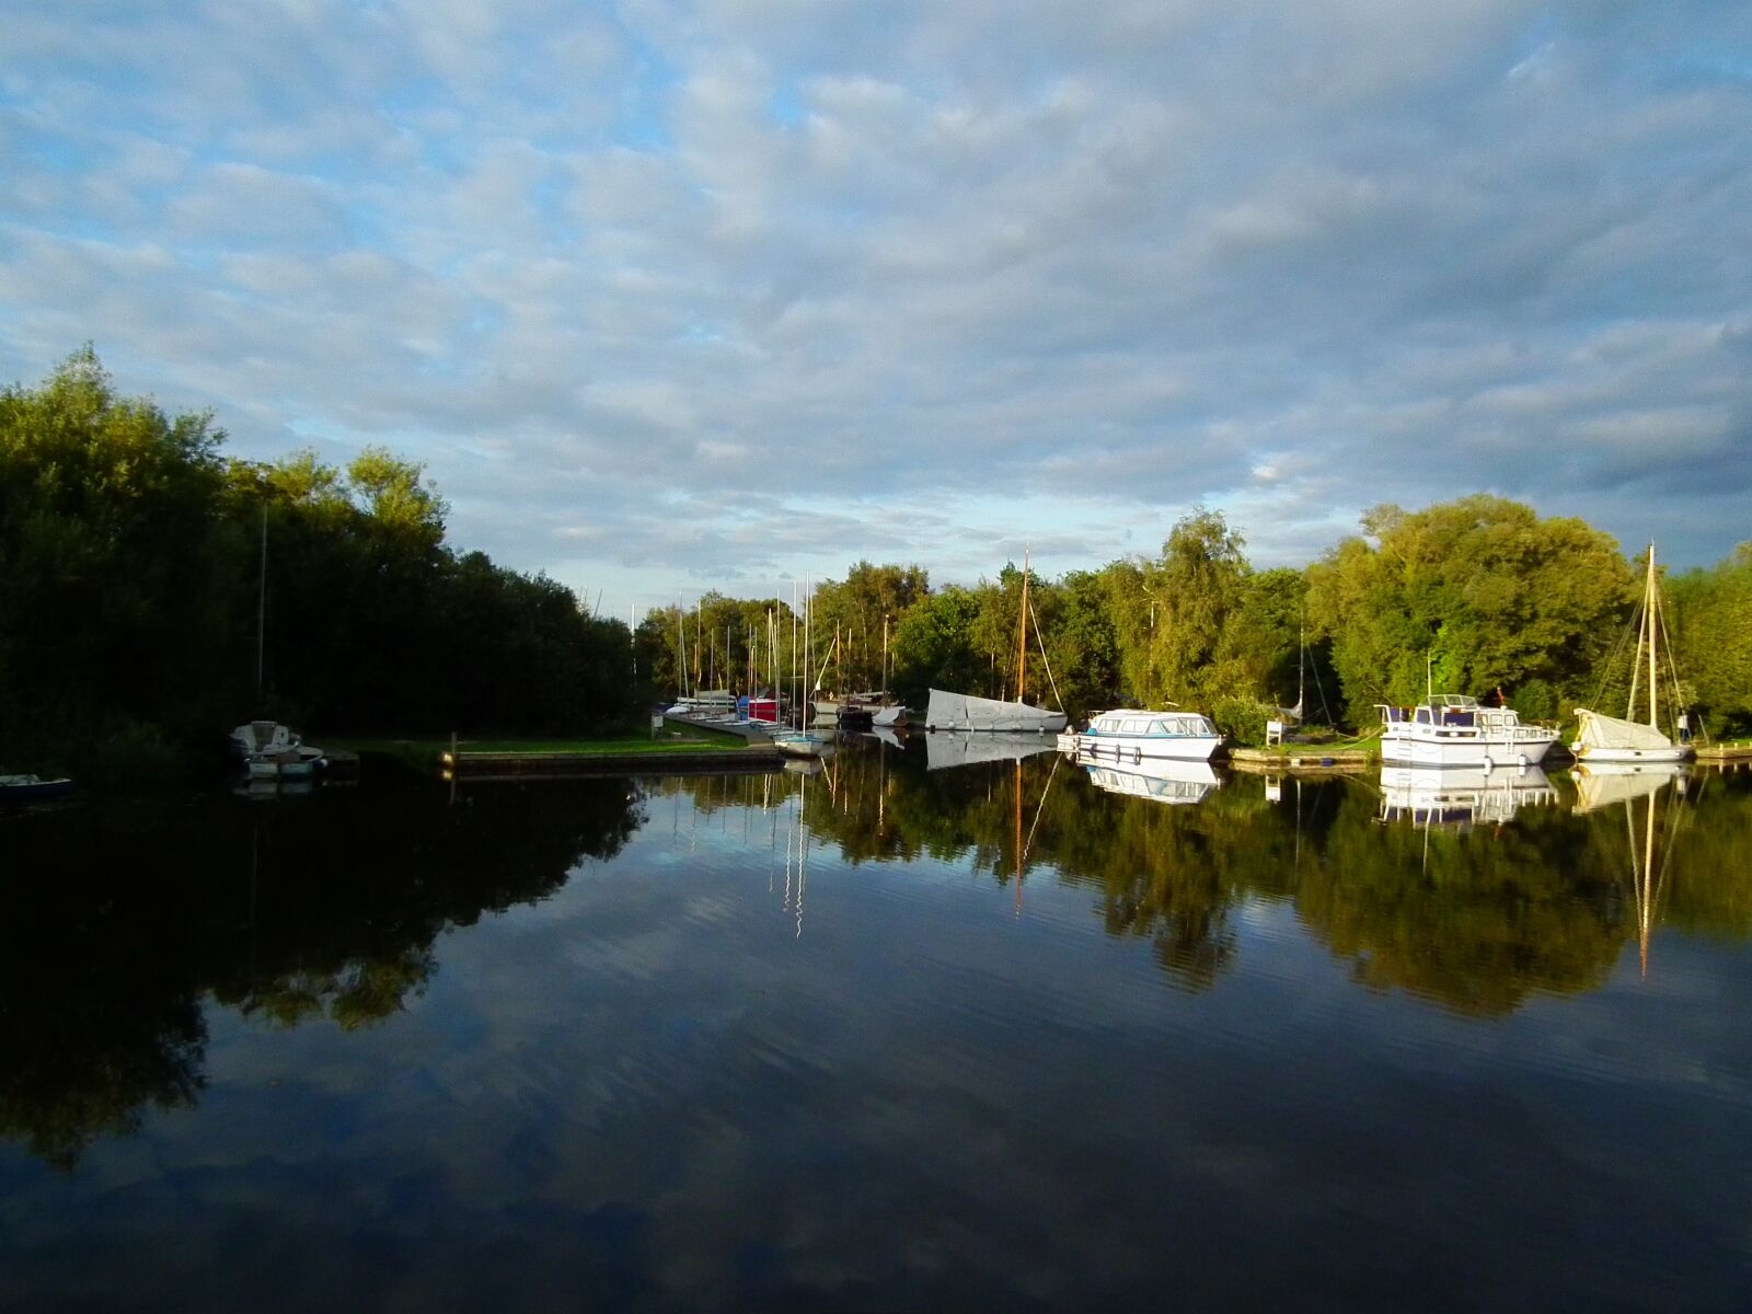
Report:
[{"label": "sunlit green-yellow trees behind the moored boats", "polygon": [[[1715,734],[1752,729],[1752,543],[1666,582],[1682,697]],[[1179,704],[1258,741],[1265,720],[1372,725],[1381,703],[1500,697],[1533,720],[1622,708],[1624,634],[1642,576],[1577,519],[1475,494],[1421,512],[1375,506],[1303,569],[1254,569],[1221,512],[1179,520],[1155,557],[1034,578],[1020,664],[1021,571],[932,589],[916,566],[857,562],[811,590],[811,652],[788,599],[706,594],[652,610],[639,668],[661,689],[720,678],[841,692],[887,685],[1062,704],[1072,717]],[[683,668],[685,661],[685,668]]]}]

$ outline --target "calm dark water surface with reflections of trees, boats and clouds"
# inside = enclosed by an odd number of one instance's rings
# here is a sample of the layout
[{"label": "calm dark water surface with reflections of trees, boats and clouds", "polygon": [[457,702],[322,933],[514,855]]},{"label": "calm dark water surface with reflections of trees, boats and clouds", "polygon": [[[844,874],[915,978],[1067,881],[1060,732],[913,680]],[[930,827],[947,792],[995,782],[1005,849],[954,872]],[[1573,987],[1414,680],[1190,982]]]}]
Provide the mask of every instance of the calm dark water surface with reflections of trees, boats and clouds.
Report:
[{"label": "calm dark water surface with reflections of trees, boats and clouds", "polygon": [[0,820],[0,1307],[1752,1300],[1752,776],[936,757]]}]

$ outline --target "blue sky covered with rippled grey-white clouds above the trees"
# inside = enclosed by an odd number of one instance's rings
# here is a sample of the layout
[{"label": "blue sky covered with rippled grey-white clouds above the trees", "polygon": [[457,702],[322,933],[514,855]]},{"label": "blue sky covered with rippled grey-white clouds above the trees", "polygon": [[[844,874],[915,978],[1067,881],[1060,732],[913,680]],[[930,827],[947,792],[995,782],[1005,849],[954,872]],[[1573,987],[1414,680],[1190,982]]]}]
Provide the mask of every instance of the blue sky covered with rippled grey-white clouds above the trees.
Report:
[{"label": "blue sky covered with rippled grey-white clouds above the trees", "polygon": [[1752,5],[9,0],[0,384],[611,615],[1494,492],[1752,538]]}]

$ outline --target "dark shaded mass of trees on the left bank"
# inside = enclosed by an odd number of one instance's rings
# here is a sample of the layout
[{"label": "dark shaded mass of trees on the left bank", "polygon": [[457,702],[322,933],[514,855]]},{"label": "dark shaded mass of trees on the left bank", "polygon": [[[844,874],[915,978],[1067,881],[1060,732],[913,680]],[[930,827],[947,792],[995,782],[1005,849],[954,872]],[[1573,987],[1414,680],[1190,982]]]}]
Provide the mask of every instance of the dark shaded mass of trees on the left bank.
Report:
[{"label": "dark shaded mass of trees on the left bank", "polygon": [[398,736],[624,720],[631,636],[445,543],[420,466],[224,454],[86,347],[0,392],[0,769],[177,771],[252,717]]}]

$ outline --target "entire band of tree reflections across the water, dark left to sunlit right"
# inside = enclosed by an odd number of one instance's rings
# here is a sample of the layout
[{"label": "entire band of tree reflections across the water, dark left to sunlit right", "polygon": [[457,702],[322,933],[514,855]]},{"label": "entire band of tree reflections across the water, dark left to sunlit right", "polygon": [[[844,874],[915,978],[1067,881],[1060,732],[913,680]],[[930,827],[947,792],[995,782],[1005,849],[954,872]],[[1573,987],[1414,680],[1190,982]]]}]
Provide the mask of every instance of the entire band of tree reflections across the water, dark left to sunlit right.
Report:
[{"label": "entire band of tree reflections across the water, dark left to sunlit right", "polygon": [[[440,971],[443,930],[611,860],[652,799],[687,825],[741,818],[762,855],[794,816],[846,865],[962,865],[1018,909],[1027,883],[1088,892],[1106,932],[1148,941],[1184,990],[1263,951],[1244,934],[1249,906],[1293,915],[1368,990],[1475,1016],[1600,986],[1663,920],[1752,934],[1748,781],[1698,776],[1659,797],[1654,881],[1647,832],[1628,832],[1621,808],[1573,809],[1575,785],[1552,781],[1565,806],[1444,827],[1382,820],[1367,780],[1268,797],[1228,776],[1170,802],[1097,788],[1056,753],[927,773],[916,745],[867,741],[808,783],[477,785],[454,802],[377,787],[14,818],[0,834],[0,1137],[72,1167],[147,1109],[196,1100],[207,999],[268,1027],[394,1016]],[[1645,818],[1649,801],[1628,806]]]}]

